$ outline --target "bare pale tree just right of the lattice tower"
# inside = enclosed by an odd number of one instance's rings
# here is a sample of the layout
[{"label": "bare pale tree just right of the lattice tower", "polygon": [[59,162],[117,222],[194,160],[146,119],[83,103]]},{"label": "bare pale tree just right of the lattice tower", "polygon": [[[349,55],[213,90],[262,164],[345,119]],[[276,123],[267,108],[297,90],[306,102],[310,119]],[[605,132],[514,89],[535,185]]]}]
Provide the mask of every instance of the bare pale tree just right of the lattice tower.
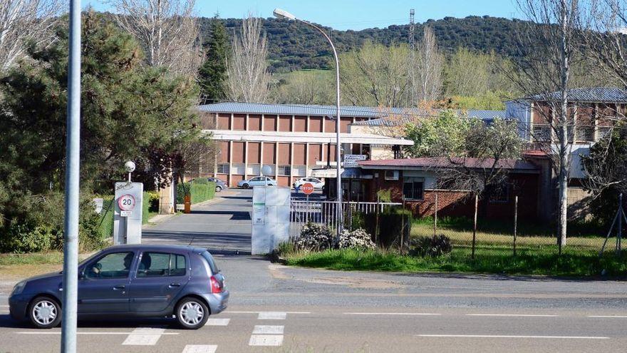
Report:
[{"label": "bare pale tree just right of the lattice tower", "polygon": [[412,97],[412,102],[435,101],[440,98],[442,91],[442,54],[437,48],[435,34],[430,27],[425,27],[423,41],[418,44],[415,55],[415,77],[412,84],[418,88],[415,90],[417,97]]}]

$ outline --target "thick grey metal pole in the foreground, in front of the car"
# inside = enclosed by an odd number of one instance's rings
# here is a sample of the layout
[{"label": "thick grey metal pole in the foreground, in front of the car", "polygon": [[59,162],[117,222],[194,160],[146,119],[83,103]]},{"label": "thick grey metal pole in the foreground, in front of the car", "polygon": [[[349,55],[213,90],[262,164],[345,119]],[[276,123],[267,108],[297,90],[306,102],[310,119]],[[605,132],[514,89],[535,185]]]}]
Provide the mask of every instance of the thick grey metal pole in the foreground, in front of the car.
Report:
[{"label": "thick grey metal pole in the foreground, in front of the car", "polygon": [[61,352],[75,353],[78,299],[78,193],[79,168],[81,167],[81,0],[70,0],[69,39]]}]

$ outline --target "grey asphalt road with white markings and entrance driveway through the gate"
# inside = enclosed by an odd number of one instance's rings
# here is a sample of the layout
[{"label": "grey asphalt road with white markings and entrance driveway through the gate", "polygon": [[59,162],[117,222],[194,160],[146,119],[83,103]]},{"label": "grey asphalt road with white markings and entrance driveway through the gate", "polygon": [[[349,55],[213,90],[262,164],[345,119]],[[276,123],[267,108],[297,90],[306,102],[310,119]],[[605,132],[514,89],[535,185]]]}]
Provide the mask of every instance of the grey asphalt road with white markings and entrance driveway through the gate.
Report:
[{"label": "grey asphalt road with white markings and entrance driveway through the gate", "polygon": [[[625,352],[627,284],[494,275],[414,275],[286,267],[250,255],[229,190],[145,240],[207,246],[229,309],[197,331],[172,319],[80,322],[79,352]],[[249,207],[249,206],[248,206]],[[247,233],[248,231],[248,233]],[[150,232],[150,236],[148,233]],[[248,248],[247,248],[248,247]],[[9,319],[0,282],[0,352],[58,352],[60,329]]]}]

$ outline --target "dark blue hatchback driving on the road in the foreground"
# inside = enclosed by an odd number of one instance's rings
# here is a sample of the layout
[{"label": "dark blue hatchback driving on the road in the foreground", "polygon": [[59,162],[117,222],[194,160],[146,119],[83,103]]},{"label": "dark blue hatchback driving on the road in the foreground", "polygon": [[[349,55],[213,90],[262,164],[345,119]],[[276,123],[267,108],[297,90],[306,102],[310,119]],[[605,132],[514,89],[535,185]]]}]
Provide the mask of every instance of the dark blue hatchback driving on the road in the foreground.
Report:
[{"label": "dark blue hatchback driving on the road in the foreground", "polygon": [[[41,329],[61,322],[63,275],[15,285],[9,312]],[[118,245],[78,265],[78,317],[172,317],[198,329],[227,308],[224,275],[206,249],[180,245]]]}]

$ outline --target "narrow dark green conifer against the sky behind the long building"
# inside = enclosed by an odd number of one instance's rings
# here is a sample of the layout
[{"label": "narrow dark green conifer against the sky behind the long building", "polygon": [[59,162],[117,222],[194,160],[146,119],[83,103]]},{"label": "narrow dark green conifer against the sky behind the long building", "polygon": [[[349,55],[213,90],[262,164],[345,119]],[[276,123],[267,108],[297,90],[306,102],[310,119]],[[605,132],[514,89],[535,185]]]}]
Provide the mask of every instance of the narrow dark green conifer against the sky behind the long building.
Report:
[{"label": "narrow dark green conifer against the sky behind the long building", "polygon": [[200,94],[207,102],[215,102],[227,96],[227,58],[229,55],[229,36],[217,15],[210,25],[209,42],[204,63],[198,70]]}]

